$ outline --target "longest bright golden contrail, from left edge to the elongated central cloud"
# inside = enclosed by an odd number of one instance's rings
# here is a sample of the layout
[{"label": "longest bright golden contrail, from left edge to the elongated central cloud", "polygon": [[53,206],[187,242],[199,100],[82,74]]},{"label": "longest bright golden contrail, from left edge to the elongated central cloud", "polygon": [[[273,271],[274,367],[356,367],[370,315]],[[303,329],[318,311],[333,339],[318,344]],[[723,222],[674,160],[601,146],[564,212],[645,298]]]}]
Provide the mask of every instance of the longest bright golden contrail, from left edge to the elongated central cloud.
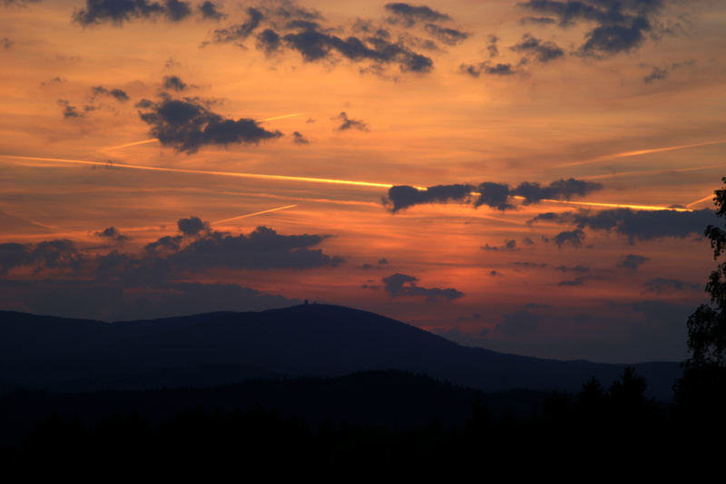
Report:
[{"label": "longest bright golden contrail, from left edge to the elongated central cloud", "polygon": [[[211,175],[217,177],[231,177],[231,178],[242,178],[242,179],[270,179],[270,180],[282,180],[282,181],[303,181],[307,183],[327,183],[331,185],[352,185],[356,187],[375,187],[378,189],[390,189],[393,187],[391,183],[376,183],[372,181],[357,181],[351,179],[318,179],[312,177],[290,177],[287,175],[262,175],[260,173],[240,173],[237,171],[211,171],[208,169],[182,169],[182,168],[164,168],[164,167],[149,167],[144,165],[128,165],[126,163],[112,163],[103,161],[89,161],[89,160],[68,160],[64,158],[43,158],[36,156],[15,156],[15,155],[0,155],[0,158],[9,158],[16,160],[31,160],[31,161],[49,161],[53,163],[68,163],[76,165],[91,165],[96,167],[105,168],[123,168],[123,169],[142,169],[146,171],[165,171],[167,173],[191,173],[193,175]],[[418,187],[417,187],[418,188]]]}]

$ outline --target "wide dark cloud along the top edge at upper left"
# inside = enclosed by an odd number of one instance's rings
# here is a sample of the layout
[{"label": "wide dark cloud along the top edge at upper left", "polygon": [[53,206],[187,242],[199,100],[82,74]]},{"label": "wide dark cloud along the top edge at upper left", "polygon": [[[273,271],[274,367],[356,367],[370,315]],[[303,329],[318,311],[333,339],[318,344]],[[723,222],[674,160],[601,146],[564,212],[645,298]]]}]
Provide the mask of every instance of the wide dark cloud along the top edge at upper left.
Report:
[{"label": "wide dark cloud along the top edge at upper left", "polygon": [[179,22],[191,15],[191,7],[180,0],[162,3],[149,0],[86,0],[85,8],[74,12],[74,22],[82,25],[110,22],[121,25],[137,18],[158,18],[163,15]]}]

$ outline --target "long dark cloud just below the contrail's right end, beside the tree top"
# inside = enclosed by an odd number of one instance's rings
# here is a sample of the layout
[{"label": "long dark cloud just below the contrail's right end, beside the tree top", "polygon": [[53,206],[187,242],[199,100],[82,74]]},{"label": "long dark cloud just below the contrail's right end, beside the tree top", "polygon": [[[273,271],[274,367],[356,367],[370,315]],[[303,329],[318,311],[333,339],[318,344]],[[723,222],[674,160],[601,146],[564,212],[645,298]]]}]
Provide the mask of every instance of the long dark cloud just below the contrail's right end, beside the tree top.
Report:
[{"label": "long dark cloud just below the contrail's right end, beside the tree top", "polygon": [[560,214],[540,214],[529,222],[547,220],[593,230],[605,230],[627,237],[631,243],[662,237],[689,237],[703,234],[708,225],[717,223],[713,211],[702,210],[633,210],[611,208],[606,210],[578,210]]}]

